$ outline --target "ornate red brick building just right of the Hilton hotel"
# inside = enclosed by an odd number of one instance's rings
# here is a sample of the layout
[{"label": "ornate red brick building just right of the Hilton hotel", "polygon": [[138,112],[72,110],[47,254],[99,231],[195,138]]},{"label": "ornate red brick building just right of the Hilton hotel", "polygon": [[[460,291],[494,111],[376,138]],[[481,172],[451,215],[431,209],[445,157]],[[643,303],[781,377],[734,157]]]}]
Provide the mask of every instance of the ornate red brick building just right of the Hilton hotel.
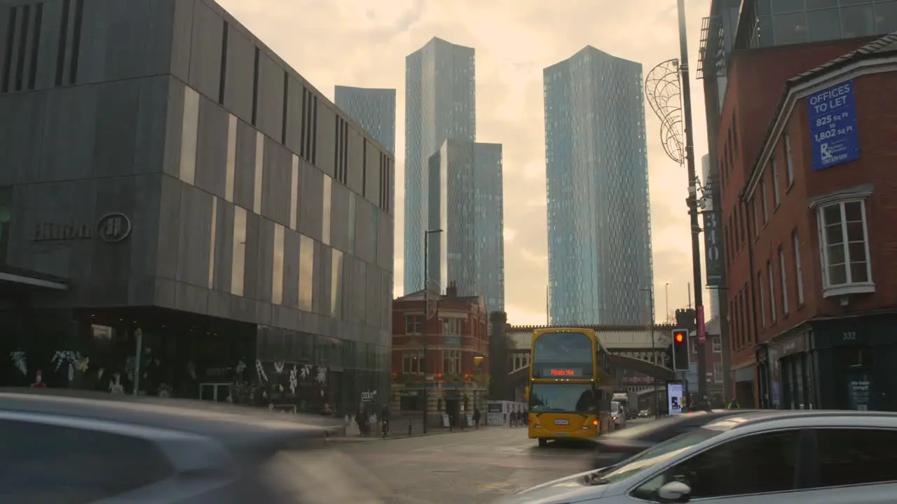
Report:
[{"label": "ornate red brick building just right of the Hilton hotel", "polygon": [[428,425],[462,406],[469,412],[476,404],[484,411],[489,388],[489,313],[483,297],[459,297],[452,282],[434,304],[425,318],[423,291],[393,300],[391,407],[421,412],[426,403]]}]

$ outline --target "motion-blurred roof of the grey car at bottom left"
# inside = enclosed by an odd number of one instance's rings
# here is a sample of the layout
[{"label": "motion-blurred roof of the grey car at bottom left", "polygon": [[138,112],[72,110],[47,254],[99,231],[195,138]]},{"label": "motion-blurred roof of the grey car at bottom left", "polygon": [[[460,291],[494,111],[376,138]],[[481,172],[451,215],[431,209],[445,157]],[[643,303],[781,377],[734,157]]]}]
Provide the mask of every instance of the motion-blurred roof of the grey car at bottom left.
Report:
[{"label": "motion-blurred roof of the grey car at bottom left", "polygon": [[2,412],[177,430],[216,439],[234,450],[290,448],[323,438],[327,428],[334,428],[323,417],[272,413],[265,408],[71,389],[0,387]]}]

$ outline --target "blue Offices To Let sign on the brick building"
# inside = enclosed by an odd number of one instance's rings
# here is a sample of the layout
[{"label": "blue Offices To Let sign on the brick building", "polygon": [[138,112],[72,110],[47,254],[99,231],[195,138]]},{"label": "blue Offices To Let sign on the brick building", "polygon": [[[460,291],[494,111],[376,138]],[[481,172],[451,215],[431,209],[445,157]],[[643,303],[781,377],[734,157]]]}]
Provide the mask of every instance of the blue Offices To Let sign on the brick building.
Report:
[{"label": "blue Offices To Let sign on the brick building", "polygon": [[853,81],[835,84],[810,95],[806,106],[810,116],[813,169],[826,169],[859,159]]}]

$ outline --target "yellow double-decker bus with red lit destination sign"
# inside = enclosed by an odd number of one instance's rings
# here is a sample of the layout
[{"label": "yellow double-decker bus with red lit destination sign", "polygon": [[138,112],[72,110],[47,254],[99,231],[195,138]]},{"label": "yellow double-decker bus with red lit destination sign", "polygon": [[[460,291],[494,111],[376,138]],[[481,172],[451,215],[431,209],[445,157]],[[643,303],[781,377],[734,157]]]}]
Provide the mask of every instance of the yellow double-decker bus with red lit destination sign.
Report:
[{"label": "yellow double-decker bus with red lit destination sign", "polygon": [[596,438],[614,429],[609,353],[592,329],[536,329],[529,359],[529,438]]}]

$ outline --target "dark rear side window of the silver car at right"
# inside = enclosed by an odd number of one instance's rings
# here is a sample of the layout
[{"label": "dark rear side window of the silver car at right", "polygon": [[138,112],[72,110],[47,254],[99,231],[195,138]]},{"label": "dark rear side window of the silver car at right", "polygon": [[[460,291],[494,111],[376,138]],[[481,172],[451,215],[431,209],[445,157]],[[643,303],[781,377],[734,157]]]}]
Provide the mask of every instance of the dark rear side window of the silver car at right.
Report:
[{"label": "dark rear side window of the silver car at right", "polygon": [[897,430],[815,430],[819,453],[817,488],[897,481]]}]

